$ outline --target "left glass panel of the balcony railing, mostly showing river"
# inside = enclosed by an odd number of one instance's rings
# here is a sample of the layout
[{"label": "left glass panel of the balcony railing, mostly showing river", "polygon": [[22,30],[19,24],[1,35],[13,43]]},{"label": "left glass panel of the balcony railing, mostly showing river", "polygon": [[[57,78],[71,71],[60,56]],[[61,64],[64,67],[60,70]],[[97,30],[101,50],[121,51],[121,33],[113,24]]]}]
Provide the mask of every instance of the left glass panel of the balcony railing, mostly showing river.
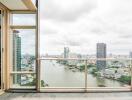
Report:
[{"label": "left glass panel of the balcony railing, mostly showing river", "polygon": [[41,61],[41,87],[84,87],[85,74],[78,63],[84,61]]}]

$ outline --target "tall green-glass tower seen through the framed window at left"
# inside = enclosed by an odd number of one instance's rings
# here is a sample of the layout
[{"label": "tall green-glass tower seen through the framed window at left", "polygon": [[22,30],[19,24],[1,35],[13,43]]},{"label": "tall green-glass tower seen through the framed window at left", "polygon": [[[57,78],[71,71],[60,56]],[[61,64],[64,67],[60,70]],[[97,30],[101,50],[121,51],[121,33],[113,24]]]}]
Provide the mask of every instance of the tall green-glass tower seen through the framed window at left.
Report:
[{"label": "tall green-glass tower seen through the framed window at left", "polygon": [[[19,31],[13,31],[13,70],[21,71],[21,37],[19,37]],[[21,75],[16,75],[13,82],[21,83]]]}]

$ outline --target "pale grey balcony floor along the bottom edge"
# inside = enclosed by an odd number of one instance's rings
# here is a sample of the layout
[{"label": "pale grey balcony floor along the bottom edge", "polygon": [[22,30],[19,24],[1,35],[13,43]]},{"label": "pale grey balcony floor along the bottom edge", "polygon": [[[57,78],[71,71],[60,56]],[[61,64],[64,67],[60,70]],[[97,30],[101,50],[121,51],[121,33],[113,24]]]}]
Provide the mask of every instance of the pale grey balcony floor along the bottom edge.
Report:
[{"label": "pale grey balcony floor along the bottom edge", "polygon": [[0,100],[132,100],[132,93],[5,93]]}]

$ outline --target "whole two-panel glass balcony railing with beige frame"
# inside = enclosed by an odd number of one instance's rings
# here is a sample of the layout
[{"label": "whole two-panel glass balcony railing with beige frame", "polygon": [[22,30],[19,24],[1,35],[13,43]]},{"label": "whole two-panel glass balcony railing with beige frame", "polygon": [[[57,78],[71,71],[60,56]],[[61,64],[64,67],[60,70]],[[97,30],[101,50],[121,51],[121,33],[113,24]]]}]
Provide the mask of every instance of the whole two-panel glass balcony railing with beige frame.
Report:
[{"label": "whole two-panel glass balcony railing with beige frame", "polygon": [[131,59],[58,59],[41,61],[41,88],[130,88]]}]

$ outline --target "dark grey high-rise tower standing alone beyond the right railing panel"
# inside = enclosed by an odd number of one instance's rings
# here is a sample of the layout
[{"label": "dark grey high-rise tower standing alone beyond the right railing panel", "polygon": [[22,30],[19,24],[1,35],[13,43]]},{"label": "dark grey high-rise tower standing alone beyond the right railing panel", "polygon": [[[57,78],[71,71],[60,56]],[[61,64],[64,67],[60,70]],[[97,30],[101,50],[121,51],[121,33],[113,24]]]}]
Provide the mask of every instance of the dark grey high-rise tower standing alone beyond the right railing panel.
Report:
[{"label": "dark grey high-rise tower standing alone beyond the right railing panel", "polygon": [[[96,57],[99,58],[106,58],[106,44],[105,43],[97,43],[97,52]],[[106,60],[97,60],[97,69],[104,70],[106,67]]]}]

